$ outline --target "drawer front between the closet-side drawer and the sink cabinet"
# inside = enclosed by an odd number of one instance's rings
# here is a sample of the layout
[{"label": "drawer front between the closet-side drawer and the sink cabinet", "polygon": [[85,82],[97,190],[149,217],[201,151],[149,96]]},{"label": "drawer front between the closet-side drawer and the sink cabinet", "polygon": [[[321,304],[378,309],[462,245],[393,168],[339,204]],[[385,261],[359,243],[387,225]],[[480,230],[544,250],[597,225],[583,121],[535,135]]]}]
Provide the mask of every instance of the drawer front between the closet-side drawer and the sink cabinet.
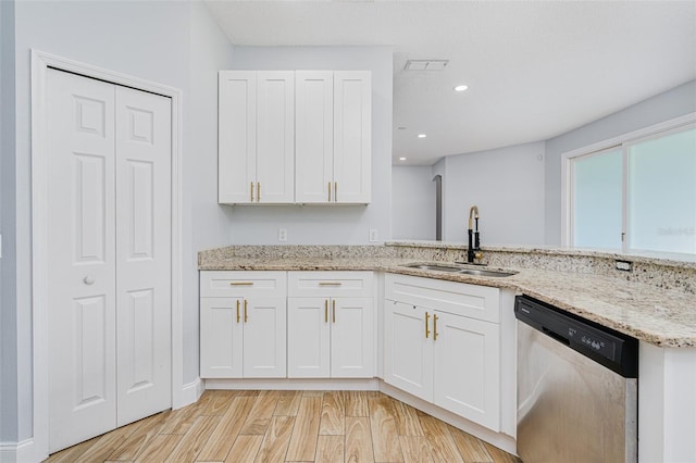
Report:
[{"label": "drawer front between the closet-side drawer and the sink cabinet", "polygon": [[288,272],[289,297],[373,296],[372,272]]}]

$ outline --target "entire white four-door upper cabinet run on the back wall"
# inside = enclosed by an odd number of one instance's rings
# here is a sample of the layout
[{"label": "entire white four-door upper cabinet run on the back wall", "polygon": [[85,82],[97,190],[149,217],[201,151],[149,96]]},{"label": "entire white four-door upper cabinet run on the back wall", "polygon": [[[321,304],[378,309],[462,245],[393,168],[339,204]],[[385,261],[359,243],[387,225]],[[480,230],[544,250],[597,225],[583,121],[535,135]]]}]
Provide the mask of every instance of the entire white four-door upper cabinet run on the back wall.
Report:
[{"label": "entire white four-door upper cabinet run on the back wall", "polygon": [[221,71],[219,202],[368,204],[369,71]]}]

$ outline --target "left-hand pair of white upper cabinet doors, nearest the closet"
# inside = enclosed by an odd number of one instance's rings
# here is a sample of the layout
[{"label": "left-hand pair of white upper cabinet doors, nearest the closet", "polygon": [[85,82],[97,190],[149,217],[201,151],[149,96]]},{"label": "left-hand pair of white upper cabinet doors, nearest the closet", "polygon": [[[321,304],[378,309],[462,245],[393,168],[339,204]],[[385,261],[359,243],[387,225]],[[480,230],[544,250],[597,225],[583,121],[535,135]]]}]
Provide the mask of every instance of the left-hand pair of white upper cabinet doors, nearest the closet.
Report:
[{"label": "left-hand pair of white upper cabinet doors, nearest the closet", "polygon": [[294,202],[294,74],[220,72],[219,202]]}]

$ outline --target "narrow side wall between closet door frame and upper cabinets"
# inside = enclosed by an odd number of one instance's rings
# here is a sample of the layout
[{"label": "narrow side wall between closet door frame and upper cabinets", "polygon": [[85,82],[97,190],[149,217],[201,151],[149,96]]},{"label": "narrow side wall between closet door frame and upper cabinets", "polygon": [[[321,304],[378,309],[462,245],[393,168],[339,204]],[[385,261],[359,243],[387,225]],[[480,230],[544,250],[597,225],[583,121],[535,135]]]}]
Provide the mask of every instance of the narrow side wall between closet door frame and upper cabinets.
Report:
[{"label": "narrow side wall between closet door frame and upper cabinets", "polygon": [[184,383],[198,377],[198,251],[231,242],[231,211],[217,204],[217,71],[233,47],[200,2],[191,5],[184,96]]}]

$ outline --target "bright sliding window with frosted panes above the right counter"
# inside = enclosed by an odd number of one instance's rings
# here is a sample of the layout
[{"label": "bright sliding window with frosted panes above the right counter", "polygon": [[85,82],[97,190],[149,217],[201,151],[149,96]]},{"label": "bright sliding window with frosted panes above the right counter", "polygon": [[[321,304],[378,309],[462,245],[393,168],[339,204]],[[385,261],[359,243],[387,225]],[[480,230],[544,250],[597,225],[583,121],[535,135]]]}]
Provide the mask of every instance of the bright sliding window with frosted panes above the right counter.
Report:
[{"label": "bright sliding window with frosted panes above the right counter", "polygon": [[641,135],[566,155],[566,242],[696,254],[696,124]]}]

